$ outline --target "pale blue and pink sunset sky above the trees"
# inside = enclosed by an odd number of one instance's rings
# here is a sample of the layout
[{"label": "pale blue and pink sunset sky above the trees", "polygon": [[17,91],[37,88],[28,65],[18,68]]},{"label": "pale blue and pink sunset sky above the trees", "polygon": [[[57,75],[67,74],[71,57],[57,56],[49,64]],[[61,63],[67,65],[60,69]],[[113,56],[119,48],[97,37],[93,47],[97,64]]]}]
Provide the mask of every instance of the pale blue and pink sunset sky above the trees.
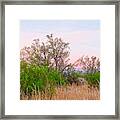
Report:
[{"label": "pale blue and pink sunset sky above the trees", "polygon": [[21,20],[20,49],[30,46],[34,39],[45,42],[51,33],[70,43],[72,63],[83,55],[100,57],[99,20]]}]

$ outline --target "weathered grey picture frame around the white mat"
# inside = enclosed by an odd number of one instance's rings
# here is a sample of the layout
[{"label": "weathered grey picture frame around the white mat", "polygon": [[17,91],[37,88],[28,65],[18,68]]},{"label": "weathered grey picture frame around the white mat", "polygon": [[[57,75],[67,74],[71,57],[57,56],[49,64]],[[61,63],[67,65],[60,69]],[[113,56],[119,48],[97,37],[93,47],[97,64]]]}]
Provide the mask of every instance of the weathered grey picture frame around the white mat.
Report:
[{"label": "weathered grey picture frame around the white mat", "polygon": [[[115,115],[5,115],[5,5],[115,5]],[[45,0],[1,2],[0,119],[119,119],[119,0]]]}]

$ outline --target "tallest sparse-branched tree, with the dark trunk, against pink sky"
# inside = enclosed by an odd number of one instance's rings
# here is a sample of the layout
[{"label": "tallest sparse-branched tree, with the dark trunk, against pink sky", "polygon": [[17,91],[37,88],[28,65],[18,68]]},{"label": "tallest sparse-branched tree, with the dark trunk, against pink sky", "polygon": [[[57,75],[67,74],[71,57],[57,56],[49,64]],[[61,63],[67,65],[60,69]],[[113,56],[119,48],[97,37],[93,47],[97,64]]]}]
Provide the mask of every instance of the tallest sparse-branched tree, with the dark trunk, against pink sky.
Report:
[{"label": "tallest sparse-branched tree, with the dark trunk, against pink sky", "polygon": [[61,38],[53,38],[53,35],[47,35],[48,48],[56,70],[62,71],[69,61],[69,43],[63,42]]}]

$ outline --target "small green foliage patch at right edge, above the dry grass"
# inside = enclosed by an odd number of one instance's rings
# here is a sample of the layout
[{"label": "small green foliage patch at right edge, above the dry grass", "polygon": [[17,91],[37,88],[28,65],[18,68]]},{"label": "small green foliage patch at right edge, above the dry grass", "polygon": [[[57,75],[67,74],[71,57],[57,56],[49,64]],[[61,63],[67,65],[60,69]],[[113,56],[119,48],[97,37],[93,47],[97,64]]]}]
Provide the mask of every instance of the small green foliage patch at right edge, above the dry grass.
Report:
[{"label": "small green foliage patch at right edge, above the dry grass", "polygon": [[85,79],[87,80],[88,84],[93,87],[99,88],[100,85],[100,72],[90,73],[84,75]]}]

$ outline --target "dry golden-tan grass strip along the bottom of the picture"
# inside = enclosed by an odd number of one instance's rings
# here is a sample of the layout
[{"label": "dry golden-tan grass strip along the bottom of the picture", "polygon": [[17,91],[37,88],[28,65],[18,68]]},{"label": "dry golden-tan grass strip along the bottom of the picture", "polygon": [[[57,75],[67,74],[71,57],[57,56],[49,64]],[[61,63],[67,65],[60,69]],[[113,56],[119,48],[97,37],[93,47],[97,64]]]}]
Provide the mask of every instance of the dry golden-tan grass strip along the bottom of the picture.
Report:
[{"label": "dry golden-tan grass strip along the bottom of the picture", "polygon": [[34,91],[32,95],[21,95],[21,100],[99,100],[100,91],[98,88],[90,88],[84,85],[67,85],[66,87],[57,87],[55,94],[50,98],[47,93]]}]

